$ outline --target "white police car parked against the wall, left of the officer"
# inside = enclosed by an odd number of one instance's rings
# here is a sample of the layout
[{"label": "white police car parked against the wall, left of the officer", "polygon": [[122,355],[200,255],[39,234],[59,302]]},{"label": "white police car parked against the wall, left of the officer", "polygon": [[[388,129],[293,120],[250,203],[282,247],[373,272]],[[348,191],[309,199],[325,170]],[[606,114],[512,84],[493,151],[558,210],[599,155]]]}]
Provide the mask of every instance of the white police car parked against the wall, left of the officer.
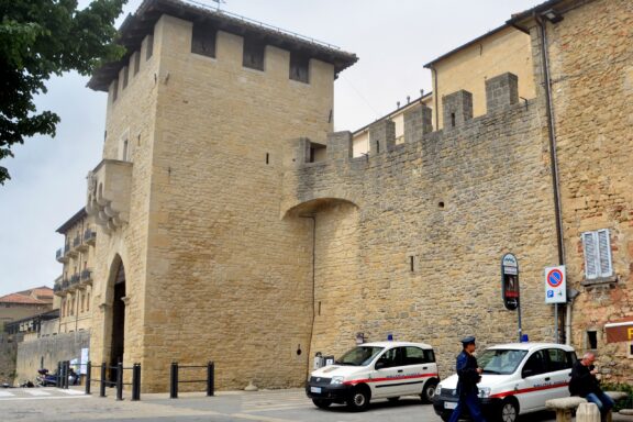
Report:
[{"label": "white police car parked against the wall, left of the officer", "polygon": [[423,343],[377,342],[358,345],[333,365],[314,370],[306,393],[319,408],[346,403],[366,410],[378,398],[420,396],[431,401],[437,385],[433,347]]}]

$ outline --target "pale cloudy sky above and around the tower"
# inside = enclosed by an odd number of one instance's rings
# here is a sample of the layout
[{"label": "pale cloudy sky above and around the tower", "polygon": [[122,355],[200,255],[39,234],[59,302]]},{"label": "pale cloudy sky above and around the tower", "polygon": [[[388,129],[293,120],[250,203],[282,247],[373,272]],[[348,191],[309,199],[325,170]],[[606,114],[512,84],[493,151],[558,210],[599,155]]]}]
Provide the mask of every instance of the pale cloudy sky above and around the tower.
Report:
[{"label": "pale cloudy sky above and around the tower", "polygon": [[[425,63],[543,1],[226,0],[221,9],[355,53],[358,63],[336,80],[334,110],[335,129],[354,131],[429,92]],[[124,14],[140,3],[130,0]],[[86,82],[76,74],[52,79],[37,107],[60,115],[57,136],[26,140],[2,160],[12,179],[0,186],[0,296],[52,287],[62,274],[55,230],[84,207],[86,175],[101,157],[106,93]]]}]

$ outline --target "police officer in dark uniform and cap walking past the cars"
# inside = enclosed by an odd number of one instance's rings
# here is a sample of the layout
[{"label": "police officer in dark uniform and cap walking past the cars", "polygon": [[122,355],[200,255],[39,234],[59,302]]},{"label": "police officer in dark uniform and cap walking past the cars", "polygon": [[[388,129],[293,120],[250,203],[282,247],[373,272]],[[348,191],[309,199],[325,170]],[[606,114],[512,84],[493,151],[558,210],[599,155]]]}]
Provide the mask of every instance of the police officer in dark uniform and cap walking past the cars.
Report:
[{"label": "police officer in dark uniform and cap walking past the cars", "polygon": [[486,422],[481,414],[481,407],[477,398],[477,382],[481,379],[482,369],[477,366],[477,358],[473,356],[473,352],[477,346],[475,345],[475,337],[469,336],[462,340],[464,349],[457,356],[457,393],[459,395],[459,402],[448,422],[457,422],[464,407],[468,408],[470,418],[474,422]]}]

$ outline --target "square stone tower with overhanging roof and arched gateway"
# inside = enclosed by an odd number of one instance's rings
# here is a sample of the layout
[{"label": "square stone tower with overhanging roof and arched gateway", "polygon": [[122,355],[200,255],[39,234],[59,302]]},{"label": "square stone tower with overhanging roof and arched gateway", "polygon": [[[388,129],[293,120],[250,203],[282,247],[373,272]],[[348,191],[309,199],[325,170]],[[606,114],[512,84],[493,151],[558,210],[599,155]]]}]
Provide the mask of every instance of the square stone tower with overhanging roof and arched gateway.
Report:
[{"label": "square stone tower with overhanging roof and arched gateway", "polygon": [[279,216],[282,147],[332,131],[356,56],[177,0],[145,0],[120,31],[127,54],[88,84],[109,92],[90,358],[141,363],[146,391],[174,360],[214,360],[219,388],[300,385],[311,222]]}]

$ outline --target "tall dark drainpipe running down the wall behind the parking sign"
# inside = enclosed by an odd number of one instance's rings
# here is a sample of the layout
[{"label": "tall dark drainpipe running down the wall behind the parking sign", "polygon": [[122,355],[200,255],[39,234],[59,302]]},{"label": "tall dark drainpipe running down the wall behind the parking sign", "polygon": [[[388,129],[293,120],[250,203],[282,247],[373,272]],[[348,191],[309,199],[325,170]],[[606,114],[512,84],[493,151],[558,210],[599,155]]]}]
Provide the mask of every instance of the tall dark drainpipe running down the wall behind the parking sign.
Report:
[{"label": "tall dark drainpipe running down the wall behind the parking sign", "polygon": [[[560,213],[560,192],[558,179],[558,159],[556,156],[556,126],[554,120],[554,106],[552,103],[552,80],[549,77],[549,60],[547,56],[547,31],[543,19],[534,14],[541,34],[541,66],[543,70],[543,82],[545,88],[545,110],[547,113],[547,135],[549,137],[549,166],[552,171],[552,190],[554,193],[554,213],[556,214],[556,238],[558,246],[558,265],[565,265],[565,246],[563,243],[563,215]],[[570,313],[570,308],[567,310]],[[556,338],[558,343],[558,304],[554,304],[554,320],[556,322]],[[567,331],[569,330],[569,331]],[[571,322],[565,326],[565,336],[569,338],[571,334]]]}]

